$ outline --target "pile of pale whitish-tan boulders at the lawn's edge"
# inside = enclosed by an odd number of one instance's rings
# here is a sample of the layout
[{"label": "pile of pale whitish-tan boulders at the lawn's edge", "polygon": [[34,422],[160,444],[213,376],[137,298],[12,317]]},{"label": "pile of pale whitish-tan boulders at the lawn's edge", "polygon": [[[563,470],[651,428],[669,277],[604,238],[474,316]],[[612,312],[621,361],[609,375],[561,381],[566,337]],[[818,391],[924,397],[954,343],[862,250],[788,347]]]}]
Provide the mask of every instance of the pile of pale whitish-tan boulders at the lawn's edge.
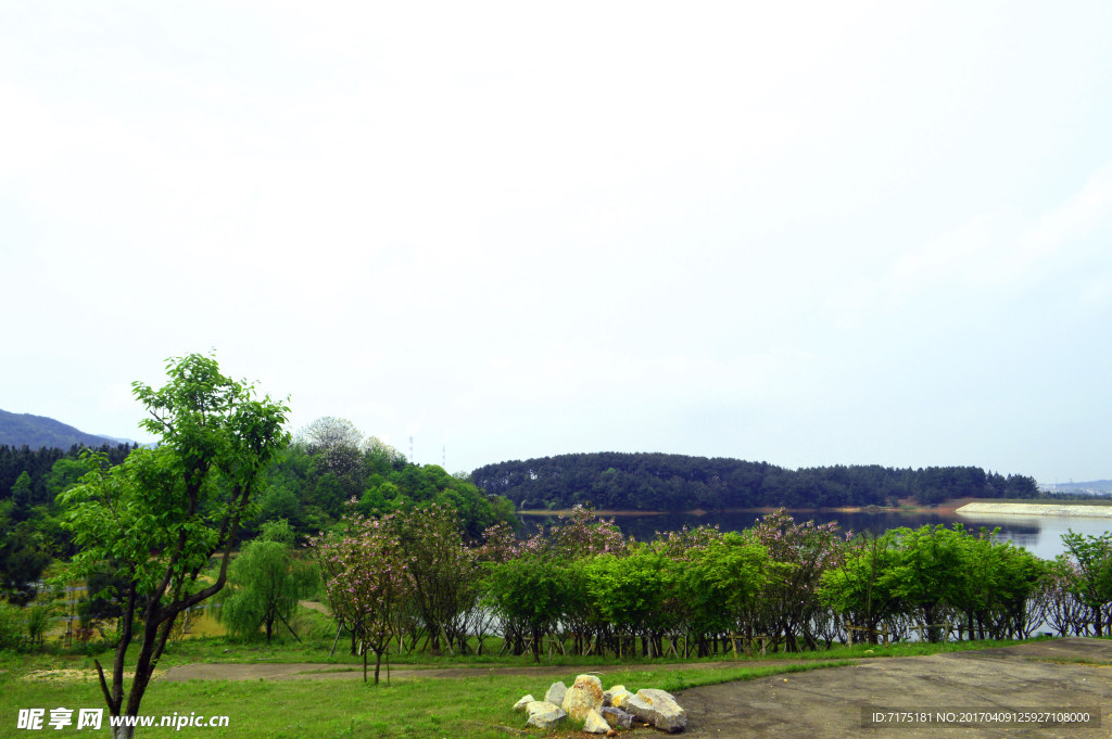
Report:
[{"label": "pile of pale whitish-tan boulders at the lawn's edge", "polygon": [[608,733],[614,729],[628,729],[634,719],[676,733],[687,728],[687,713],[676,699],[664,690],[643,688],[636,693],[625,686],[603,690],[603,682],[594,675],[580,675],[568,688],[554,682],[544,700],[525,696],[514,703],[514,710],[528,713],[528,726],[550,728],[570,716],[585,721],[584,731]]}]

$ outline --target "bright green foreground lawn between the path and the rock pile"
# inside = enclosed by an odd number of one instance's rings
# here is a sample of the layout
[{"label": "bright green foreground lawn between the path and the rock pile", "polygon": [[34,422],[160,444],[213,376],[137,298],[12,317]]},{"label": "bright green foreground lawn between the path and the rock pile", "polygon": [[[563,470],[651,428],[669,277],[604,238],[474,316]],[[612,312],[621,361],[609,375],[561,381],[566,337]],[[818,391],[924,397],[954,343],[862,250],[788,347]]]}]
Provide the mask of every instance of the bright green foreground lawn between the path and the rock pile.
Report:
[{"label": "bright green foreground lawn between the path and the rock pile", "polygon": [[[818,669],[844,662],[787,662],[763,668],[724,668],[679,671],[661,667],[651,670],[600,669],[606,687],[623,683],[632,690],[658,687],[669,691]],[[524,727],[525,717],[510,707],[527,692],[543,695],[556,679],[570,683],[576,671],[557,677],[508,676],[458,680],[450,678],[395,680],[393,685],[365,685],[359,680],[202,681],[153,682],[143,699],[146,716],[175,712],[228,716],[225,736],[247,739],[279,739],[305,736],[350,738],[440,739],[476,737],[493,739],[506,735],[495,726]],[[100,708],[102,698],[95,680],[69,683],[28,681],[0,677],[4,705],[0,727],[14,730],[19,708]],[[107,719],[106,719],[107,720]],[[50,729],[51,735],[56,733]],[[57,733],[76,732],[68,727]],[[142,737],[203,736],[214,729],[142,729]]]}]

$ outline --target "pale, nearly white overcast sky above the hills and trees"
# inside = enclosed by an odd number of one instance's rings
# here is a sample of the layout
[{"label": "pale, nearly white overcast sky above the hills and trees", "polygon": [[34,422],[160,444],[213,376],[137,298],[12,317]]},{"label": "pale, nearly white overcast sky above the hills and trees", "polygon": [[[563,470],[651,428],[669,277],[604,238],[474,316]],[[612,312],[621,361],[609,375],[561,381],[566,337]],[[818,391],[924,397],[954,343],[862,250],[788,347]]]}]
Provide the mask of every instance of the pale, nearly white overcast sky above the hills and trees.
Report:
[{"label": "pale, nearly white overcast sky above the hills and trees", "polygon": [[1112,478],[1112,3],[0,0],[0,408]]}]

